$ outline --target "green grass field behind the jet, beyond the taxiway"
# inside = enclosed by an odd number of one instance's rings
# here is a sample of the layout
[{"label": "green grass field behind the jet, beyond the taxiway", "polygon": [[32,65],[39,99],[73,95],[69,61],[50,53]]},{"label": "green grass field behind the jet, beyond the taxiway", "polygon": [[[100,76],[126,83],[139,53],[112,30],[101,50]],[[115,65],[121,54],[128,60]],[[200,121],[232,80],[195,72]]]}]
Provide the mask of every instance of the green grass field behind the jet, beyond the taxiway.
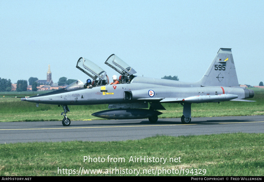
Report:
[{"label": "green grass field behind the jet, beyond the taxiway", "polygon": [[[238,102],[228,101],[218,103],[192,104],[192,117],[214,117],[214,116],[245,116],[245,115],[263,115],[264,114],[264,89],[252,88],[255,96],[249,100],[256,102]],[[8,93],[8,94],[6,94]],[[0,122],[16,121],[60,121],[63,116],[60,115],[63,109],[57,105],[39,104],[22,102],[20,98],[11,98],[15,92],[0,93]],[[37,92],[39,93],[39,92]],[[43,93],[43,92],[41,92]],[[21,95],[32,96],[31,92],[21,93]],[[3,97],[5,96],[5,97]],[[180,118],[183,107],[180,104],[162,104],[166,110],[159,118]],[[108,105],[86,105],[69,106],[68,117],[71,120],[98,120],[92,116],[100,110],[108,109]]]}]

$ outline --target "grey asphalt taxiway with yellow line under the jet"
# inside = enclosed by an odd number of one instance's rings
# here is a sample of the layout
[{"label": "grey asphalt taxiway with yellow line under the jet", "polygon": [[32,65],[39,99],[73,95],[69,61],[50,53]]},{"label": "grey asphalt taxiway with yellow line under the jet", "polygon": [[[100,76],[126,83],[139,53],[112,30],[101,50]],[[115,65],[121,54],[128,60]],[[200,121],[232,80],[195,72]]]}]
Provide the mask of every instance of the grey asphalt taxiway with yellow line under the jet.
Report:
[{"label": "grey asphalt taxiway with yellow line under the jet", "polygon": [[202,135],[219,133],[264,133],[264,116],[192,118],[182,124],[180,118],[0,123],[0,143],[58,141],[122,141],[156,135]]}]

